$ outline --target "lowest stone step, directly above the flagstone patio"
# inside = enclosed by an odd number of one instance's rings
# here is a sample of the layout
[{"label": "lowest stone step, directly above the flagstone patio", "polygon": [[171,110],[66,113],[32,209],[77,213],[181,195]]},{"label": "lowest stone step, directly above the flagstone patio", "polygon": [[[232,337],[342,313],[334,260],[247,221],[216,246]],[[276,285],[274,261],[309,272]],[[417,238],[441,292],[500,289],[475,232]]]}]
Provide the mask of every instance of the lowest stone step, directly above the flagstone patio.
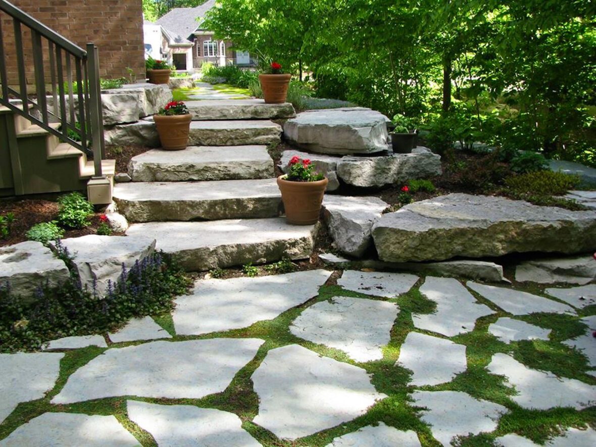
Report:
[{"label": "lowest stone step, directly above the flagstone patio", "polygon": [[217,222],[134,224],[127,235],[157,240],[156,249],[172,254],[187,271],[311,256],[318,225],[290,225],[285,218]]}]

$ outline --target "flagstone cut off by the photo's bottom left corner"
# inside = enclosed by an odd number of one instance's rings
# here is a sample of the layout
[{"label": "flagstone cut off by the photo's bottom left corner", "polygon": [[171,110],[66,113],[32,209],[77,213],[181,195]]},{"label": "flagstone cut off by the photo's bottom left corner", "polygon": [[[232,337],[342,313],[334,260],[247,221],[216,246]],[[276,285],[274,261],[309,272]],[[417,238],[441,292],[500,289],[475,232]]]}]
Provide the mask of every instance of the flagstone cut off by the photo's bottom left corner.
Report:
[{"label": "flagstone cut off by the photo's bottom left corner", "polygon": [[2,447],[135,447],[139,442],[114,416],[44,413],[0,440]]}]

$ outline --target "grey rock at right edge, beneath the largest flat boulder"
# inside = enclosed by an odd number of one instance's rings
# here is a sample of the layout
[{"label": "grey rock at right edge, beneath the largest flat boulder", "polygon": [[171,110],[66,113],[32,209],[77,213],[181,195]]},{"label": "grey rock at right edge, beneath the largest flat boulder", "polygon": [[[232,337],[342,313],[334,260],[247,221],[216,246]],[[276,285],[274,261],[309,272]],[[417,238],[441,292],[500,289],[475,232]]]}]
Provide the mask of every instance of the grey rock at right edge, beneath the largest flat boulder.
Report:
[{"label": "grey rock at right edge, beneath the largest flat boulder", "polygon": [[576,257],[535,259],[516,268],[516,281],[541,284],[588,284],[596,280],[596,260],[591,254]]}]

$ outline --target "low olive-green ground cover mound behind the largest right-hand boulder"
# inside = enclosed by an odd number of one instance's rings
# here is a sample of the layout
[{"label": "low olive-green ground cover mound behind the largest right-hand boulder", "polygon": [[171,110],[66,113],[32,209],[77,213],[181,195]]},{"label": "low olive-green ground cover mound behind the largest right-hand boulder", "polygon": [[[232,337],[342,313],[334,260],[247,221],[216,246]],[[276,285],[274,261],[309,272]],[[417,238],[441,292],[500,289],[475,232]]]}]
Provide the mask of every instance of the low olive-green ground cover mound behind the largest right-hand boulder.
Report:
[{"label": "low olive-green ground cover mound behind the largest right-hand boulder", "polygon": [[517,195],[563,195],[579,182],[580,178],[577,175],[550,170],[528,172],[505,179],[505,185]]}]

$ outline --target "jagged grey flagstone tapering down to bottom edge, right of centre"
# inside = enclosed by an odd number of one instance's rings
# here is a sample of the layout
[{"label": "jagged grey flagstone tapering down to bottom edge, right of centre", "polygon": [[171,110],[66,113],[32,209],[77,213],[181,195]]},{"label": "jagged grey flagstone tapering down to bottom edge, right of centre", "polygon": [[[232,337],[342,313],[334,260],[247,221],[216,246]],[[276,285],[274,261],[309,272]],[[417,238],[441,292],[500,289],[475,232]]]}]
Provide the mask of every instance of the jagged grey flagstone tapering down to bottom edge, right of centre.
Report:
[{"label": "jagged grey flagstone tapering down to bottom edge, right of centre", "polygon": [[449,447],[455,436],[492,432],[507,408],[477,400],[461,391],[415,391],[415,406],[426,407],[421,419],[430,424],[434,439]]}]

